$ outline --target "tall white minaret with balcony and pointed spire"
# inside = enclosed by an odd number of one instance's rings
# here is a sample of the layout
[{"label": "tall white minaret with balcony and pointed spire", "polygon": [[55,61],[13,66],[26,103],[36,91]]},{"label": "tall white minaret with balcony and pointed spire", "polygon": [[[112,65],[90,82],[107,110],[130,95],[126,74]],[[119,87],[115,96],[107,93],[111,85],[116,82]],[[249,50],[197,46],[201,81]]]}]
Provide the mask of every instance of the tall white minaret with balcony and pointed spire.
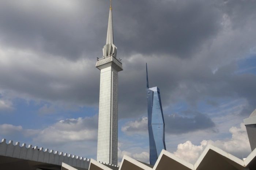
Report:
[{"label": "tall white minaret with balcony and pointed spire", "polygon": [[99,87],[99,122],[97,161],[117,165],[117,88],[118,72],[123,70],[116,58],[117,48],[113,42],[112,4],[110,0],[109,22],[103,57],[97,59],[96,67],[101,70]]}]

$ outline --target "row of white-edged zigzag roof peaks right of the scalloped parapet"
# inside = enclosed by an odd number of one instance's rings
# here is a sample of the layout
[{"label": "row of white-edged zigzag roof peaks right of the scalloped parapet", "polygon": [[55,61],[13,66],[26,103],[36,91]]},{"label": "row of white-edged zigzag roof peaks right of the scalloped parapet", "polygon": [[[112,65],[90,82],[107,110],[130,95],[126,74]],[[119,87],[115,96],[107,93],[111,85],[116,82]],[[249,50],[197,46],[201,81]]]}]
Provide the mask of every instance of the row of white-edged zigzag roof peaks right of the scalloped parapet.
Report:
[{"label": "row of white-edged zigzag roof peaks right of the scalloped parapet", "polygon": [[[91,166],[94,164],[95,166]],[[97,162],[97,165],[99,163]],[[95,162],[90,163],[89,170],[109,170],[108,167],[97,166]],[[128,156],[124,156],[118,170],[255,170],[256,169],[256,150],[243,161],[218,147],[208,145],[195,165],[178,158],[172,153],[162,150],[154,167],[136,161]]]}]

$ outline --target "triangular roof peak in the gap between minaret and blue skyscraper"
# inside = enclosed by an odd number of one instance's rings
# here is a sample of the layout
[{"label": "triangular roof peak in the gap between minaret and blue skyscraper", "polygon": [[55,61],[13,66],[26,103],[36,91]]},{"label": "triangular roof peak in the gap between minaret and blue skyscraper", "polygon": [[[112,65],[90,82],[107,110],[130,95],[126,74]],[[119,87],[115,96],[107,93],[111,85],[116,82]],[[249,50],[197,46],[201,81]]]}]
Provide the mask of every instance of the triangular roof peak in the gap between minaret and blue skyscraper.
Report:
[{"label": "triangular roof peak in the gap between minaret and blue skyscraper", "polygon": [[124,155],[119,170],[152,170],[152,168]]}]

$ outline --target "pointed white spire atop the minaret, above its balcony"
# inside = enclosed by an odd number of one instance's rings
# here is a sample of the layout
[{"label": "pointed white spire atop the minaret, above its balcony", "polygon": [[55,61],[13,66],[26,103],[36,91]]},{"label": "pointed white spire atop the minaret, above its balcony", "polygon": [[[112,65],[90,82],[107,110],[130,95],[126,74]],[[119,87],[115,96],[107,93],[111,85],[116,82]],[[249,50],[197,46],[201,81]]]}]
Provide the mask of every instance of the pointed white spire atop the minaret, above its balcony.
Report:
[{"label": "pointed white spire atop the minaret, above its balcony", "polygon": [[112,21],[112,1],[110,0],[110,8],[109,8],[109,22],[108,22],[108,32],[106,45],[103,47],[103,57],[108,57],[112,55],[116,57],[117,48],[114,45],[113,40],[113,21]]}]

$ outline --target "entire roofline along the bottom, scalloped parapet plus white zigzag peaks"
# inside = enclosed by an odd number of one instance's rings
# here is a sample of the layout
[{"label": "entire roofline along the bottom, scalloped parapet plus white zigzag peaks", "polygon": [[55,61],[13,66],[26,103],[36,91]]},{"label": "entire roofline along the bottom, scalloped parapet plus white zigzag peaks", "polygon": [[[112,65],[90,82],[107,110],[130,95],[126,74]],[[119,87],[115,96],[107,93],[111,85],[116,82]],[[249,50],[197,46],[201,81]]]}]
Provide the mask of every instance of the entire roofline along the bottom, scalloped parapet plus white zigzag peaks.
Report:
[{"label": "entire roofline along the bottom, scalloped parapet plus white zigzag peaks", "polygon": [[26,144],[15,145],[12,141],[6,143],[3,139],[0,142],[0,157],[34,161],[62,167],[64,170],[255,170],[256,149],[251,152],[245,160],[241,160],[218,147],[208,145],[196,163],[193,165],[174,154],[162,150],[154,166],[132,159],[125,155],[121,165],[114,166],[94,159],[76,157],[62,152],[45,151],[43,148],[32,147]]}]

